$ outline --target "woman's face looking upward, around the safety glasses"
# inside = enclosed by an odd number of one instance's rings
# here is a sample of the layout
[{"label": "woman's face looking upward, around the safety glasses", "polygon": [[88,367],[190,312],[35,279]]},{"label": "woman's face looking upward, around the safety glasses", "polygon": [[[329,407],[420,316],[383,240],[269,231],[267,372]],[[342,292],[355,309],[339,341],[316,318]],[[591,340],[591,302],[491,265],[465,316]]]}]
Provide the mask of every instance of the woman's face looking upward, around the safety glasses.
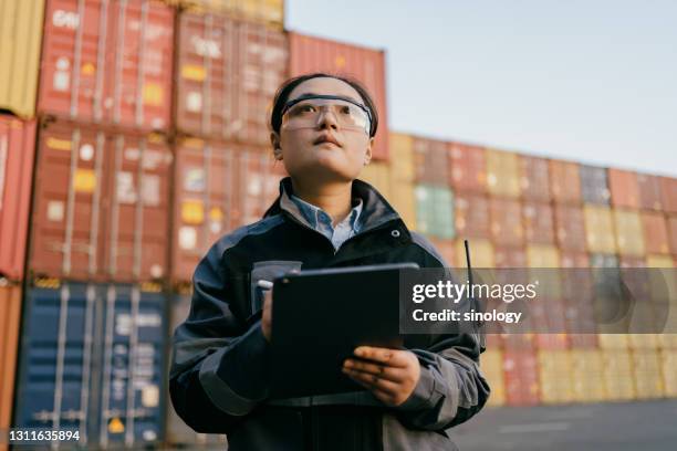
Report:
[{"label": "woman's face looking upward, around the safety glasses", "polygon": [[[304,94],[350,97],[364,105],[355,88],[336,78],[308,80],[290,93],[288,102]],[[337,144],[326,141],[327,138]],[[342,127],[335,115],[326,111],[313,126],[283,124],[279,135],[273,133],[272,141],[275,157],[281,157],[290,176],[306,183],[352,181],[372,157],[373,138],[364,129]]]}]

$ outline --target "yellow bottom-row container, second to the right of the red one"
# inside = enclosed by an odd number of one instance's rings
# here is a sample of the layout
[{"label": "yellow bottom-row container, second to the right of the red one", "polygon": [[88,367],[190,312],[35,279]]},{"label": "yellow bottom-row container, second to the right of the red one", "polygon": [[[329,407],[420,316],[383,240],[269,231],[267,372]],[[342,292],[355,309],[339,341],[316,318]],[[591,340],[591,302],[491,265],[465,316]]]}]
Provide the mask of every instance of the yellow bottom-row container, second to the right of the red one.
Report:
[{"label": "yellow bottom-row container, second to the right of the red one", "polygon": [[572,349],[572,398],[576,402],[597,402],[605,399],[604,364],[597,349]]}]

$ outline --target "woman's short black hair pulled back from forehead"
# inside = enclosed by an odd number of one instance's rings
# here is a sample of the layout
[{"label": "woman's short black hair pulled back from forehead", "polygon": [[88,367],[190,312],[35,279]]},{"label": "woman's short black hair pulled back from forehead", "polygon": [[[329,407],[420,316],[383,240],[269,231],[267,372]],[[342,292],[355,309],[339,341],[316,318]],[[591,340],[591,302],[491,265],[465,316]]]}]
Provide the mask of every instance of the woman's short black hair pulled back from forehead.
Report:
[{"label": "woman's short black hair pulled back from forehead", "polygon": [[376,109],[376,104],[374,99],[369,95],[367,88],[357,80],[352,78],[346,75],[340,74],[331,74],[327,72],[314,72],[312,74],[304,74],[291,77],[287,80],[275,93],[275,97],[273,98],[273,107],[270,114],[270,127],[273,132],[280,133],[280,126],[282,125],[282,108],[289,101],[289,95],[294,87],[299,86],[301,83],[312,80],[312,78],[336,78],[341,80],[344,83],[351,85],[360,96],[362,96],[362,101],[364,102],[364,106],[366,106],[372,113],[372,124],[369,125],[369,137],[374,137],[376,135],[376,129],[378,128],[378,111]]}]

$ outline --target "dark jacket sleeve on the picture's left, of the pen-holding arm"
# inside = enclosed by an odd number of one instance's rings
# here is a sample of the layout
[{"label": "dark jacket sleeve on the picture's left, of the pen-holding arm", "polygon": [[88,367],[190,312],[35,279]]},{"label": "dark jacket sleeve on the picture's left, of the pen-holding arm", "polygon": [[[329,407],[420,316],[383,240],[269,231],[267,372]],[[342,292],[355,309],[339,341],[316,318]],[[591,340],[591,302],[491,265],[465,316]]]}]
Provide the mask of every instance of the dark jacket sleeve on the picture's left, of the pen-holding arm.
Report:
[{"label": "dark jacket sleeve on the picture's left, of the pen-holding arm", "polygon": [[197,266],[188,318],[174,333],[169,391],[179,417],[205,433],[227,433],[268,397],[270,348],[260,322],[247,327],[231,312],[215,244]]}]

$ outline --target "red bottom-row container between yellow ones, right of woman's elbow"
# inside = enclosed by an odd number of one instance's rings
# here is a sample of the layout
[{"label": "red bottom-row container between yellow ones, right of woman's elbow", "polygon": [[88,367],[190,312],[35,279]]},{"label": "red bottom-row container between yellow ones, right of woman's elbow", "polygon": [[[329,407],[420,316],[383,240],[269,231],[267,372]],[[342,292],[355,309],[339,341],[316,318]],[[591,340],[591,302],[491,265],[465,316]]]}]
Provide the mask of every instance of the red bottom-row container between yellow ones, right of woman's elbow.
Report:
[{"label": "red bottom-row container between yellow ones, right of woman's elbow", "polygon": [[540,402],[538,360],[533,350],[506,350],[506,403],[535,406]]}]

